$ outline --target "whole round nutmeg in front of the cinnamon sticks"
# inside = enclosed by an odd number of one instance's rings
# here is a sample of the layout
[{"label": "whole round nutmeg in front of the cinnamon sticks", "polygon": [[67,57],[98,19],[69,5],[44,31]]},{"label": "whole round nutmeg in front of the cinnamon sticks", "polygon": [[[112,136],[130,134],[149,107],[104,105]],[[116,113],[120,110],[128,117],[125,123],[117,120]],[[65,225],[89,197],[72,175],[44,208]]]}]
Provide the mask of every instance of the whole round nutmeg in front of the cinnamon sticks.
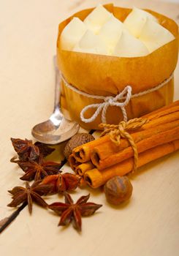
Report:
[{"label": "whole round nutmeg in front of the cinnamon sticks", "polygon": [[104,185],[107,201],[113,205],[123,203],[132,196],[132,184],[126,176],[110,178]]}]

